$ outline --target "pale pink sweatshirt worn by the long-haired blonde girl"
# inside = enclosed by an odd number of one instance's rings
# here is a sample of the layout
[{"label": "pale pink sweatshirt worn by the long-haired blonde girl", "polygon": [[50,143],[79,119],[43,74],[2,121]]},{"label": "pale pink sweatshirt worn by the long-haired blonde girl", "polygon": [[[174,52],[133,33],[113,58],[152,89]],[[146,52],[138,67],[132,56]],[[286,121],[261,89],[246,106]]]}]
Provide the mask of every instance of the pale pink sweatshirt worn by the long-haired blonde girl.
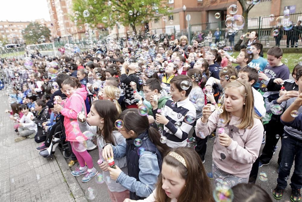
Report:
[{"label": "pale pink sweatshirt worn by the long-haired blonde girl", "polygon": [[239,129],[236,126],[241,122],[239,117],[232,116],[228,124],[224,124],[219,118],[218,110],[215,110],[209,117],[207,123],[202,123],[201,118],[196,123],[196,135],[200,137],[201,132],[204,136],[211,134],[216,129],[223,127],[225,134],[232,138],[230,146],[220,145],[219,139],[215,138],[213,148],[213,163],[217,167],[236,177],[249,177],[252,164],[259,156],[259,150],[263,137],[263,125],[260,119],[254,118],[251,128]]}]

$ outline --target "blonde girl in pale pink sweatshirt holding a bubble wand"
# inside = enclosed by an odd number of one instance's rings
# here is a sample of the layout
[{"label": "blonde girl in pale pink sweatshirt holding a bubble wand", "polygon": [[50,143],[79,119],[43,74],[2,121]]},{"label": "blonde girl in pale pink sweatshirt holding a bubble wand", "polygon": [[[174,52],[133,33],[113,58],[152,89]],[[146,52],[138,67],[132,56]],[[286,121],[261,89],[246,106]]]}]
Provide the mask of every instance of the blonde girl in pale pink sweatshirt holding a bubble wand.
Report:
[{"label": "blonde girl in pale pink sweatshirt holding a bubble wand", "polygon": [[[259,156],[263,126],[254,114],[252,87],[246,81],[226,85],[223,112],[212,113],[211,104],[204,106],[196,124],[196,134],[204,138],[216,129],[212,171],[214,183],[222,179],[227,187],[248,183],[252,164]],[[223,128],[223,129],[221,129]]]}]

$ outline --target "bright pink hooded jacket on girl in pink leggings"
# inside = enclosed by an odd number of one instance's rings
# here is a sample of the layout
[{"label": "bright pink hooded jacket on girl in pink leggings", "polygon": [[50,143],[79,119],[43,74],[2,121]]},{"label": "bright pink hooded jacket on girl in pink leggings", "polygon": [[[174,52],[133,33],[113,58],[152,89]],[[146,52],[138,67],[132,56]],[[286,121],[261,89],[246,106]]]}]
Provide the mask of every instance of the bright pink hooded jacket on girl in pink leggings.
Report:
[{"label": "bright pink hooded jacket on girl in pink leggings", "polygon": [[82,134],[77,121],[77,116],[80,111],[85,111],[85,115],[87,115],[85,106],[86,96],[85,88],[77,88],[69,98],[62,102],[64,108],[61,110],[61,114],[65,117],[64,126],[67,141],[77,141],[76,137],[78,136],[82,136],[87,140],[87,137]]}]

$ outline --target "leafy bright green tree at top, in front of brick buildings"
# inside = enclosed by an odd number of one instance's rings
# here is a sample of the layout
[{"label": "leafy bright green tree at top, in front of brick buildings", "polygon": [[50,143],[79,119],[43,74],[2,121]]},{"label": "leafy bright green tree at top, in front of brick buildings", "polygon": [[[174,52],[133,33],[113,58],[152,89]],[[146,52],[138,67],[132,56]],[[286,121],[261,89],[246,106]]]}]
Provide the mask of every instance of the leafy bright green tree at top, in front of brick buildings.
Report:
[{"label": "leafy bright green tree at top, in front of brick buildings", "polygon": [[[151,19],[168,15],[170,8],[165,6],[162,0],[75,0],[73,2],[75,12],[74,21],[89,23],[97,26],[102,23],[108,27],[122,24],[130,26],[136,32],[136,26],[145,24]],[[84,17],[88,10],[88,17]],[[79,15],[78,15],[79,14]],[[166,17],[165,19],[168,19]]]}]

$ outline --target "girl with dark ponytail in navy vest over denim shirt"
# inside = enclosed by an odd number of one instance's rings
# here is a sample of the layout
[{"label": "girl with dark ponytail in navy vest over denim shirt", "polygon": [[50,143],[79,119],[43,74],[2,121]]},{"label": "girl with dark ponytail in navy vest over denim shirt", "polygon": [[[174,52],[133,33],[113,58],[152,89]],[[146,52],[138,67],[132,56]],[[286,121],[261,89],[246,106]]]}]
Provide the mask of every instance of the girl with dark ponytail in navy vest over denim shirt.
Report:
[{"label": "girl with dark ponytail in navy vest over denim shirt", "polygon": [[[160,142],[159,132],[150,127],[148,118],[141,116],[137,109],[127,109],[119,116],[120,133],[126,138],[122,144],[108,144],[103,149],[103,159],[127,158],[128,175],[108,167],[111,179],[130,190],[130,199],[148,197],[154,190],[162,168],[162,155],[168,146]],[[123,121],[123,122],[122,122]]]}]

